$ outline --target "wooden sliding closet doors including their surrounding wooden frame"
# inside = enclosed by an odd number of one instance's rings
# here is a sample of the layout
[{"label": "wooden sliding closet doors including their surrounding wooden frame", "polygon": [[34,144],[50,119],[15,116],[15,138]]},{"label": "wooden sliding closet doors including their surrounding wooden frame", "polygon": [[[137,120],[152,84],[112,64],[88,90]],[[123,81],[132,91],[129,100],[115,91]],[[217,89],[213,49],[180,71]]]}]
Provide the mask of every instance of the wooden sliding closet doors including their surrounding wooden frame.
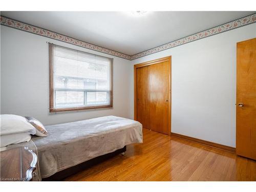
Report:
[{"label": "wooden sliding closet doors including their surrounding wooden frame", "polygon": [[170,135],[170,59],[134,66],[135,120],[152,131]]}]

